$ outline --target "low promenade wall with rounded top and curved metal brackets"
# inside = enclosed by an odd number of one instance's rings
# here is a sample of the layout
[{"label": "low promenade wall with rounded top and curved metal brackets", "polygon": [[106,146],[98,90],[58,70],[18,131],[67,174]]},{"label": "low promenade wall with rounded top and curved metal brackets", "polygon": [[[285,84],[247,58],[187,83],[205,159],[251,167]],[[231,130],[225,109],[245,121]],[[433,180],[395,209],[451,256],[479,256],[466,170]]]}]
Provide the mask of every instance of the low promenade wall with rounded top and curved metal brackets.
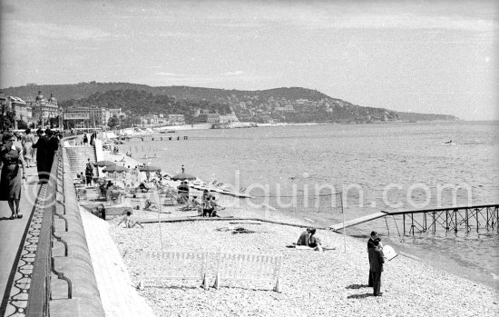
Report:
[{"label": "low promenade wall with rounded top and curved metal brackets", "polygon": [[104,316],[64,147],[43,186],[36,203],[44,205],[44,220],[26,315]]}]

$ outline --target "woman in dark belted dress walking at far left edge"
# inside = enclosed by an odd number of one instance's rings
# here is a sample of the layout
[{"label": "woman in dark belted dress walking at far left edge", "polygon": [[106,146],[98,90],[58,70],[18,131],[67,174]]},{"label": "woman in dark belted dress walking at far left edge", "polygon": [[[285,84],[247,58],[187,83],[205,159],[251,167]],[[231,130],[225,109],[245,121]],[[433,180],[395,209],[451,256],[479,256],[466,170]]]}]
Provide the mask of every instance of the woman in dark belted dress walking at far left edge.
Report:
[{"label": "woman in dark belted dress walking at far left edge", "polygon": [[[11,219],[23,218],[23,215],[19,213],[21,179],[25,179],[23,150],[15,147],[13,144],[13,134],[4,134],[2,141],[4,146],[0,150],[0,162],[2,163],[0,201],[7,201],[9,203],[12,212]],[[23,168],[22,173],[19,171],[19,164]]]}]

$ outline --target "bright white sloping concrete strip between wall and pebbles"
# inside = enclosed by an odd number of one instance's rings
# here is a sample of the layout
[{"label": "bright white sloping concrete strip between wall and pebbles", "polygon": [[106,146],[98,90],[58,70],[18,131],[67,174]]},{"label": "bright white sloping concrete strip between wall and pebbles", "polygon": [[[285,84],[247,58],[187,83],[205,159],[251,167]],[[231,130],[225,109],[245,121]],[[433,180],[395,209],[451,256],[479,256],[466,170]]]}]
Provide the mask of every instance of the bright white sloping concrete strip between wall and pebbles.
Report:
[{"label": "bright white sloping concrete strip between wall and pebbles", "polygon": [[80,213],[106,317],[154,316],[151,307],[135,291],[122,256],[109,234],[109,224],[83,207],[80,207]]}]

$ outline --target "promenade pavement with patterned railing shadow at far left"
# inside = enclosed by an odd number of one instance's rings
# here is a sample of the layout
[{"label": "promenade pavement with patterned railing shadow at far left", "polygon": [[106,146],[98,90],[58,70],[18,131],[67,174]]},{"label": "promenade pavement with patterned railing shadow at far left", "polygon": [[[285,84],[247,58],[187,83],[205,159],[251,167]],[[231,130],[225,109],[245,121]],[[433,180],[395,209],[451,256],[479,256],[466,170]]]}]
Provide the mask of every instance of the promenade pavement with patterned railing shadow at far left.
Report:
[{"label": "promenade pavement with patterned railing shadow at far left", "polygon": [[[22,258],[30,252],[25,250],[24,242],[39,189],[36,168],[31,167],[26,169],[26,187],[21,193],[20,213],[23,214],[23,218],[11,220],[8,203],[0,202],[0,292],[2,292],[0,316],[22,313],[27,304],[30,279],[26,276],[31,276],[32,270],[29,263],[24,263]],[[34,243],[31,244],[28,249],[33,249]]]}]

